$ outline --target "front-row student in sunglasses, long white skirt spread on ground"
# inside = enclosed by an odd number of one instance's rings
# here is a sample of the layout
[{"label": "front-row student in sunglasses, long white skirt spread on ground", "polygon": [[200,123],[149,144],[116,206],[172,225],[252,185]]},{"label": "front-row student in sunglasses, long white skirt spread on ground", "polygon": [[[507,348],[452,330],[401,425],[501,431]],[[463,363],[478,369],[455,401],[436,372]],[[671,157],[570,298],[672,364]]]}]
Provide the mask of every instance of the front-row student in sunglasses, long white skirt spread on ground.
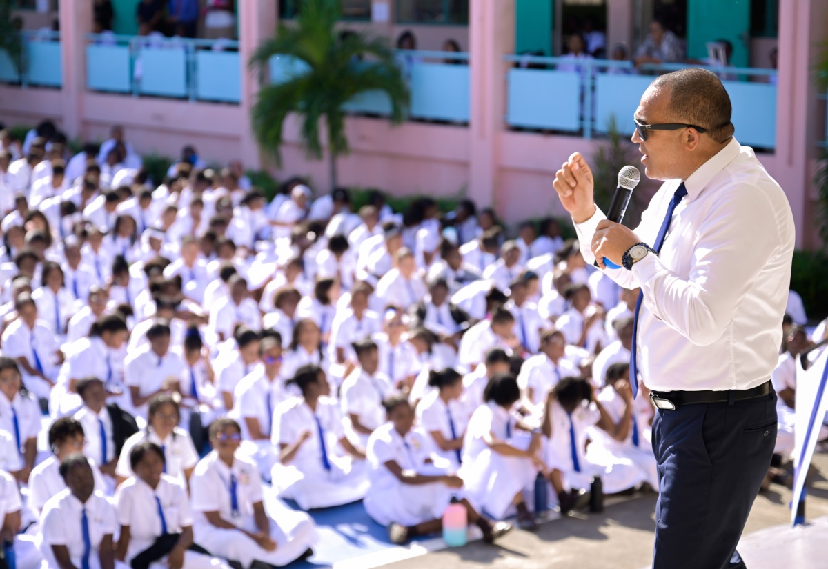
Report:
[{"label": "front-row student in sunglasses, long white skirt spread on ground", "polygon": [[282,566],[310,557],[317,539],[313,521],[277,500],[268,500],[265,509],[257,466],[236,452],[241,438],[241,428],[231,418],[210,425],[214,450],[201,459],[190,480],[195,543],[244,569],[253,562]]}]

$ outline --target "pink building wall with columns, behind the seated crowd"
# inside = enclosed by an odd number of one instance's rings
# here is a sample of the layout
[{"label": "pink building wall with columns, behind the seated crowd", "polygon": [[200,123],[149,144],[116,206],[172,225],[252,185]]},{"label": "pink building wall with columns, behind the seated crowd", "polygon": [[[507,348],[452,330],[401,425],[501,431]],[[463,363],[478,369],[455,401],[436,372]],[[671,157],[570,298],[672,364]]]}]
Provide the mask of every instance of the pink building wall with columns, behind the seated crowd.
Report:
[{"label": "pink building wall with columns, behind the seated crowd", "polygon": [[[458,26],[456,30],[455,37],[472,58],[474,97],[469,126],[407,122],[391,127],[380,119],[351,117],[348,134],[352,153],[339,160],[340,183],[376,187],[397,195],[454,195],[462,191],[480,206],[493,205],[507,222],[563,213],[551,189],[555,171],[572,152],[590,156],[600,142],[506,129],[503,55],[513,50],[514,1],[470,2],[469,26]],[[632,0],[624,2],[630,4]],[[269,165],[279,178],[309,175],[320,191],[328,187],[325,162],[306,160],[296,122],[288,122],[281,169],[274,168],[267,156],[260,155],[249,134],[248,119],[258,83],[247,69],[243,70],[239,105],[87,92],[84,34],[90,31],[88,4],[61,2],[63,76],[70,79],[60,90],[0,86],[2,121],[32,124],[49,117],[70,137],[90,140],[103,140],[113,124],[122,124],[128,140],[142,153],[174,157],[181,146],[193,143],[206,160],[226,162],[241,158],[249,167]],[[240,51],[244,61],[271,33],[272,22],[277,18],[275,5],[272,0],[240,3]],[[621,24],[612,34],[618,41],[631,35],[632,17],[626,17]],[[422,49],[438,49],[450,27],[371,26],[378,33],[386,30],[384,33],[392,36],[412,28],[421,38]],[[815,246],[818,242],[810,217],[816,199],[811,179],[815,141],[822,132],[814,118],[816,84],[810,62],[816,55],[817,42],[825,39],[826,30],[828,2],[782,2],[777,150],[774,154],[759,155],[759,159],[787,192],[797,220],[799,246]]]}]

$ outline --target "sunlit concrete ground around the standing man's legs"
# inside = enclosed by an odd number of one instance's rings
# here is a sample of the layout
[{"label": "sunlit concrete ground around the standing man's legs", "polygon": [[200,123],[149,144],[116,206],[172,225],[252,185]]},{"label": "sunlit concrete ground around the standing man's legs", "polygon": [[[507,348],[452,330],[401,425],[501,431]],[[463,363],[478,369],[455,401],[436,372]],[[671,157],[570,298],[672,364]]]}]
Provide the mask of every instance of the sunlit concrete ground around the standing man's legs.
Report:
[{"label": "sunlit concrete ground around the standing man's legs", "polygon": [[[828,515],[828,454],[817,454],[814,465],[820,472],[808,493],[808,519]],[[789,500],[791,491],[780,485],[773,485],[771,490],[759,495],[753,504],[744,535],[787,524],[790,519],[787,509]],[[577,514],[551,521],[542,525],[538,533],[515,530],[497,546],[471,543],[466,547],[429,553],[386,567],[642,569],[649,565],[651,559],[655,503],[655,495],[641,495],[610,505],[603,514]],[[819,539],[824,538],[824,534],[821,535]],[[760,569],[756,563],[749,567]]]}]

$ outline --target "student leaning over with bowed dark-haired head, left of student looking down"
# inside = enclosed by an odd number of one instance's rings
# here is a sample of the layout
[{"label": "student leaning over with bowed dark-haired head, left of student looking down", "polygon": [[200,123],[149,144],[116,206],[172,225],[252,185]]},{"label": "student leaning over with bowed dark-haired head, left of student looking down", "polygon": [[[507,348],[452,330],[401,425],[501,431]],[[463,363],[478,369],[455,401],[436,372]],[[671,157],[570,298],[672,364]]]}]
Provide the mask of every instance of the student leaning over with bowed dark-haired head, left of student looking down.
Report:
[{"label": "student leaning over with bowed dark-haired head, left of student looking down", "polygon": [[[51,392],[49,409],[52,417],[74,414],[83,402],[77,385],[84,377],[98,377],[110,393],[122,393],[123,345],[129,330],[123,318],[108,314],[95,321],[89,337],[75,343],[75,349],[60,368],[57,385]],[[118,365],[118,360],[122,362]]]}]

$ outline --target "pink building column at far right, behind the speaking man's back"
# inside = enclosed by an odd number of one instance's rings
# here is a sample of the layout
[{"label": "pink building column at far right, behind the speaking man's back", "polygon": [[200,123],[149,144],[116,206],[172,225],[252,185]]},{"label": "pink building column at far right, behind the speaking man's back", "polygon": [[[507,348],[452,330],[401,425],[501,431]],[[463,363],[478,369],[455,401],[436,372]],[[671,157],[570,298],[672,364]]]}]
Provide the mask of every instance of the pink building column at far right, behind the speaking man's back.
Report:
[{"label": "pink building column at far right, behind the speaking man's back", "polygon": [[[777,171],[797,225],[797,248],[813,240],[811,171],[816,156],[817,86],[811,64],[826,38],[828,5],[822,0],[782,2],[779,7],[777,81]],[[738,137],[737,133],[737,137]]]}]

